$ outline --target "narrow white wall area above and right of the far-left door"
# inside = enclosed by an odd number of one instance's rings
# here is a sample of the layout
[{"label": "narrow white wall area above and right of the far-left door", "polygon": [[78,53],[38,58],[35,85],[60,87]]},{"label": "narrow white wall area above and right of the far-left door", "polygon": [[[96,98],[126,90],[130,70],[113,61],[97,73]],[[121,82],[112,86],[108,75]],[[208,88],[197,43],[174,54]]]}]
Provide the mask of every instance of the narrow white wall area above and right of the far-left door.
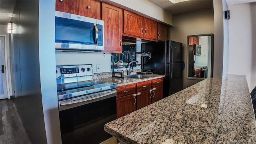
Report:
[{"label": "narrow white wall area above and right of the far-left door", "polygon": [[12,78],[11,78],[11,68],[10,68],[10,48],[9,48],[10,46],[9,46],[9,34],[7,33],[7,24],[6,25],[0,24],[0,35],[6,35],[9,89],[10,89],[10,96],[12,96],[13,92],[12,92]]}]

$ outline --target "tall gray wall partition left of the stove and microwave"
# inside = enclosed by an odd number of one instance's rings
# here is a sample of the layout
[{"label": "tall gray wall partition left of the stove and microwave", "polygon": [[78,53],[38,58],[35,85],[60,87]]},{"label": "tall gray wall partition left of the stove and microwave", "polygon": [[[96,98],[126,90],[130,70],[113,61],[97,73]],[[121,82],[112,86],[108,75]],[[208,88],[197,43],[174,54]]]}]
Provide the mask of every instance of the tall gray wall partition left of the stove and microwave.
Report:
[{"label": "tall gray wall partition left of the stove and microwave", "polygon": [[18,1],[11,58],[15,104],[34,144],[60,144],[55,75],[55,1]]}]

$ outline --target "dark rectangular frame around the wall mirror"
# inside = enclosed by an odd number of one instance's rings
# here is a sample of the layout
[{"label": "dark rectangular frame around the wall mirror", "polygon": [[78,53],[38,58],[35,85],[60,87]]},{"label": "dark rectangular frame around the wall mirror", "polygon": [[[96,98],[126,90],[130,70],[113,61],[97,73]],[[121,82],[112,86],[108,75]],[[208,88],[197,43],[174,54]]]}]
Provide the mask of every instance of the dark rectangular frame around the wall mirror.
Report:
[{"label": "dark rectangular frame around the wall mirror", "polygon": [[213,38],[213,34],[198,34],[198,35],[191,35],[191,36],[187,36],[187,70],[186,70],[186,78],[187,79],[192,79],[192,80],[204,80],[206,78],[194,78],[194,77],[188,77],[188,44],[189,44],[189,38],[190,37],[197,37],[197,36],[211,36],[211,78],[213,77],[213,56],[214,56],[214,38]]}]

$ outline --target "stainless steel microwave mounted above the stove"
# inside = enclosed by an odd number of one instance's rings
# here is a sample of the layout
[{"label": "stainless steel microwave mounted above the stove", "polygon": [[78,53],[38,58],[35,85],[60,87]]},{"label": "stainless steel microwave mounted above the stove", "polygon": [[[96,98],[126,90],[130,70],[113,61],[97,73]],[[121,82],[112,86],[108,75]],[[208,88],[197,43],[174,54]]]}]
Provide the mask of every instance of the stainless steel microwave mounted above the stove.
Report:
[{"label": "stainless steel microwave mounted above the stove", "polygon": [[55,11],[56,51],[104,50],[104,21]]}]

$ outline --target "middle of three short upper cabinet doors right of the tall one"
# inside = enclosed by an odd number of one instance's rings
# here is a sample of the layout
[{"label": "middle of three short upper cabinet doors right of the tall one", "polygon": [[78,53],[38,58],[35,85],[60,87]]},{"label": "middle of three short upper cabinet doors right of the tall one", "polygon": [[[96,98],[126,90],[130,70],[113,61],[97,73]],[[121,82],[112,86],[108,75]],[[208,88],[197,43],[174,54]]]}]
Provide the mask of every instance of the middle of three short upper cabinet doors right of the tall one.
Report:
[{"label": "middle of three short upper cabinet doors right of the tall one", "polygon": [[157,37],[157,22],[144,18],[144,38],[156,40]]}]

